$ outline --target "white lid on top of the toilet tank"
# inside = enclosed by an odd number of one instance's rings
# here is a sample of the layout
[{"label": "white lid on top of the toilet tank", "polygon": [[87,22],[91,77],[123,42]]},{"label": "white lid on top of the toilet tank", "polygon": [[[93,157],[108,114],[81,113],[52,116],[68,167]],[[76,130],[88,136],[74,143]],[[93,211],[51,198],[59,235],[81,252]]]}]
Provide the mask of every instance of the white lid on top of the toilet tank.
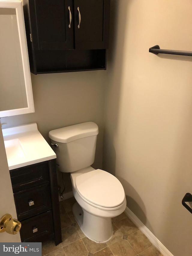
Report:
[{"label": "white lid on top of the toilet tank", "polygon": [[94,122],[85,122],[49,131],[49,138],[56,142],[68,143],[98,133],[98,125]]}]

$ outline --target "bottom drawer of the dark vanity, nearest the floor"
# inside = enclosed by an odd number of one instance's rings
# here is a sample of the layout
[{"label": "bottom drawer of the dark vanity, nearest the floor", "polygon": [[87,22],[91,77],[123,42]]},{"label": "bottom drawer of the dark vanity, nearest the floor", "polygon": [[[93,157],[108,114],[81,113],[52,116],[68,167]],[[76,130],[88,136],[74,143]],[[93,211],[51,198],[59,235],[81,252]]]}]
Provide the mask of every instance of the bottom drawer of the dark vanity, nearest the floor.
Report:
[{"label": "bottom drawer of the dark vanity, nearest the floor", "polygon": [[54,234],[52,212],[44,212],[21,221],[21,242],[41,242],[44,236]]}]

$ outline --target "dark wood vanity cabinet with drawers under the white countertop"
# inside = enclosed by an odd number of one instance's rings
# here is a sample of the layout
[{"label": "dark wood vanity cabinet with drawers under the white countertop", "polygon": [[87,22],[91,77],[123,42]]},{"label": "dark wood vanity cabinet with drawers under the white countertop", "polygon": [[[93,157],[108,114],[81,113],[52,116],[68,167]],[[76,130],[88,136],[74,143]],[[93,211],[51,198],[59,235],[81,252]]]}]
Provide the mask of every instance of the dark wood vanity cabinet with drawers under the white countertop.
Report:
[{"label": "dark wood vanity cabinet with drawers under the white countertop", "polygon": [[10,170],[21,242],[61,242],[55,159]]}]

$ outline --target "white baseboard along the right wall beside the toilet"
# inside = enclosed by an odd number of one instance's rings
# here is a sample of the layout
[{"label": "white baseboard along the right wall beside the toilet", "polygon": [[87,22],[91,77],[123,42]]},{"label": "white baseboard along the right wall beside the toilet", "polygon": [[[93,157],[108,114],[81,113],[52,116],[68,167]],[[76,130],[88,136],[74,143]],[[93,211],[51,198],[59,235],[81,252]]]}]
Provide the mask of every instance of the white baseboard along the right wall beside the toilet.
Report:
[{"label": "white baseboard along the right wall beside the toilet", "polygon": [[141,230],[141,232],[149,239],[164,256],[173,256],[167,248],[157,239],[157,237],[137,218],[137,216],[128,208],[125,209],[125,214],[133,221],[133,223]]}]

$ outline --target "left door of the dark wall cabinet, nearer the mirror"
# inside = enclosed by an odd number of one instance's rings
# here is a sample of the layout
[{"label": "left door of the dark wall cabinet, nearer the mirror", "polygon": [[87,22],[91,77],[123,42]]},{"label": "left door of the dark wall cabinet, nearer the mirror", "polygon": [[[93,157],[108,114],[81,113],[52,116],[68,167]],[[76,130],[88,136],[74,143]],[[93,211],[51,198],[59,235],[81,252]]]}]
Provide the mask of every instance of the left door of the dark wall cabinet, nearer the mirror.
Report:
[{"label": "left door of the dark wall cabinet, nearer the mirror", "polygon": [[34,50],[74,48],[72,0],[29,0],[29,9]]}]

